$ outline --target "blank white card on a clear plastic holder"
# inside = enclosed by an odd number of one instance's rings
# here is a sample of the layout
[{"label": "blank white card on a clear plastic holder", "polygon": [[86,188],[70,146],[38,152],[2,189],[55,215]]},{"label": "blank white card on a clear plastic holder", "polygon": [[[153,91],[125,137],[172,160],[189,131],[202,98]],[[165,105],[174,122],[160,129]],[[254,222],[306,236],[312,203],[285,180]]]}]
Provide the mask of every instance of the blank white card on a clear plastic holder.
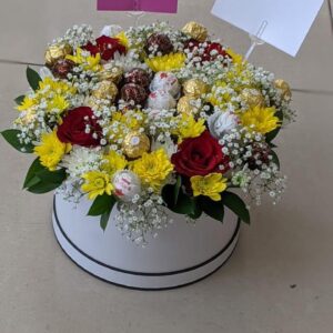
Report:
[{"label": "blank white card on a clear plastic holder", "polygon": [[[216,0],[212,14],[295,57],[324,0]],[[261,29],[264,27],[264,29]]]}]

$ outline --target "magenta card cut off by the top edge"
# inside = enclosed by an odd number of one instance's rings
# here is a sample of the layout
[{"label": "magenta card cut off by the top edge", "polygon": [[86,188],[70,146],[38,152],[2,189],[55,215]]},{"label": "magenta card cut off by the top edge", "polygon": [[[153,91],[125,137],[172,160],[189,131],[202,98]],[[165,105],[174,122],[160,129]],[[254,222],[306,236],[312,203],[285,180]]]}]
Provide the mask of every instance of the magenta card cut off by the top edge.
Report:
[{"label": "magenta card cut off by the top edge", "polygon": [[98,10],[176,12],[178,0],[98,0]]}]

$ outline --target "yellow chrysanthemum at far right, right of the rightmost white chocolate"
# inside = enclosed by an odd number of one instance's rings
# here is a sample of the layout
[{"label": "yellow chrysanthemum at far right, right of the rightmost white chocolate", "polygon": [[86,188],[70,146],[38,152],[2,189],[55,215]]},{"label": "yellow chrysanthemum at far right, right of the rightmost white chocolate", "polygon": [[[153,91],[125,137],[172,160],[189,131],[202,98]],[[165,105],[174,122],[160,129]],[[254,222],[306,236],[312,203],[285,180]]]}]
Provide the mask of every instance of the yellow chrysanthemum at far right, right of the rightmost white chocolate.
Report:
[{"label": "yellow chrysanthemum at far right, right of the rightmost white chocolate", "polygon": [[275,130],[280,125],[280,119],[275,115],[275,108],[254,107],[245,112],[240,112],[241,124],[250,131],[262,134]]}]

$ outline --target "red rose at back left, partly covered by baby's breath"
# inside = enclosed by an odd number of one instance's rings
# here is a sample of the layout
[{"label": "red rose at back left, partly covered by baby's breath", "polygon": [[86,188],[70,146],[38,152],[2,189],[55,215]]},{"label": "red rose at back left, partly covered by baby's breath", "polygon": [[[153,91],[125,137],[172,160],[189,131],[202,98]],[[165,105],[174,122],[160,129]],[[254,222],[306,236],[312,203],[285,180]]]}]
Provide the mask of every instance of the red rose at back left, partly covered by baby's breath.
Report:
[{"label": "red rose at back left, partly covered by baby's breath", "polygon": [[83,49],[89,51],[92,56],[100,53],[101,58],[107,61],[113,59],[115,52],[120,54],[127,52],[127,48],[119,42],[118,38],[107,36],[99,37],[95,40],[95,44],[89,42]]}]

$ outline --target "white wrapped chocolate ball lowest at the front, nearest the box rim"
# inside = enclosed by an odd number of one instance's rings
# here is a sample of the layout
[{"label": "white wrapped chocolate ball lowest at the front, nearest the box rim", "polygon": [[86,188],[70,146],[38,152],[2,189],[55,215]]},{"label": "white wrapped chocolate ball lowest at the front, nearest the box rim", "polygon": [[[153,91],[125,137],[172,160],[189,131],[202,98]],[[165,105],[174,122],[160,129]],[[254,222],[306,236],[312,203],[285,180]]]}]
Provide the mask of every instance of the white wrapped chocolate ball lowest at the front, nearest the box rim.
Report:
[{"label": "white wrapped chocolate ball lowest at the front, nearest the box rim", "polygon": [[129,170],[115,172],[113,176],[113,193],[124,202],[131,202],[134,195],[141,192],[141,183],[138,175]]}]

